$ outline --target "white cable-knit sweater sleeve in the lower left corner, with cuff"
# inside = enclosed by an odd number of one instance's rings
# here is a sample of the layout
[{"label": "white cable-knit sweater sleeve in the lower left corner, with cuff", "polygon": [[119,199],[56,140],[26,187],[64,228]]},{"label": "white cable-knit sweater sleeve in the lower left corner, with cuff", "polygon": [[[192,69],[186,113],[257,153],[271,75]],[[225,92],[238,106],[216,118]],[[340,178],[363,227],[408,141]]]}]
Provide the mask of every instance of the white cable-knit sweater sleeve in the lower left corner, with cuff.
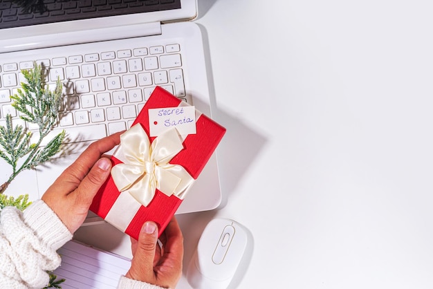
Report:
[{"label": "white cable-knit sweater sleeve in the lower left corner, with cuff", "polygon": [[1,288],[44,288],[46,270],[60,265],[57,249],[72,239],[53,210],[38,200],[24,212],[5,207],[0,212]]}]

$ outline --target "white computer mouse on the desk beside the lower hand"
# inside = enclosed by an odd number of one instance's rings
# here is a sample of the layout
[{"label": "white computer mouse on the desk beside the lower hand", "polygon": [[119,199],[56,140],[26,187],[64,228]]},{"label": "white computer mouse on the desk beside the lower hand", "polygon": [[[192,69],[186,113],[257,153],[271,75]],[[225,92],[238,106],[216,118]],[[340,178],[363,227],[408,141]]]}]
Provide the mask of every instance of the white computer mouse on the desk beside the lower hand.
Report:
[{"label": "white computer mouse on the desk beside the lower hand", "polygon": [[205,227],[187,269],[187,281],[195,289],[227,288],[248,243],[243,227],[228,218],[214,218]]}]

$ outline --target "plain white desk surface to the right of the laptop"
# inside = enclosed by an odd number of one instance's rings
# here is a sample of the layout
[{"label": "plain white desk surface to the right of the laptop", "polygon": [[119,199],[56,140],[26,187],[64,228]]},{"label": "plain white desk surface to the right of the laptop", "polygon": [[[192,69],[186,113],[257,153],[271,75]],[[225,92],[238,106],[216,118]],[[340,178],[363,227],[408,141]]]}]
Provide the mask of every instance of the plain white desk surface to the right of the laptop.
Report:
[{"label": "plain white desk surface to the right of the laptop", "polygon": [[433,288],[432,2],[199,8],[225,205],[179,217],[185,264],[221,216],[254,239],[238,288]]}]

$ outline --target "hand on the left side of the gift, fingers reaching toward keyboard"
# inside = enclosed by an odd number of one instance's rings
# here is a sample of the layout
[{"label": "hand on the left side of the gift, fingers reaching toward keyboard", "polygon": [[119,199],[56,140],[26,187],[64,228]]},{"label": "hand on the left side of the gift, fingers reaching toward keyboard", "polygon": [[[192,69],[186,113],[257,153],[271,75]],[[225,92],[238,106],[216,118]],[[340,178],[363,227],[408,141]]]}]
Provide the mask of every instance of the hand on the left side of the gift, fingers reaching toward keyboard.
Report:
[{"label": "hand on the left side of the gift, fingers reaching toward keyboard", "polygon": [[110,174],[111,160],[102,154],[120,143],[120,134],[114,133],[89,145],[42,196],[71,233],[84,222],[93,197]]}]

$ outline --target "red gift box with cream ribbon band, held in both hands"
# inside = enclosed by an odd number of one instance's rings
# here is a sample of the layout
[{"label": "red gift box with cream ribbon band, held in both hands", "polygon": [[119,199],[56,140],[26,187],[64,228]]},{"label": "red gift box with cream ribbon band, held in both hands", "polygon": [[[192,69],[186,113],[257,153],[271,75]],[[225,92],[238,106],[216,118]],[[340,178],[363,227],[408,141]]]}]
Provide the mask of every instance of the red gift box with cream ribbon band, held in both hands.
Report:
[{"label": "red gift box with cream ribbon band, held in both hands", "polygon": [[[139,123],[149,136],[149,109],[172,108],[178,107],[179,104],[185,106],[185,102],[157,86],[131,127]],[[224,133],[225,128],[196,111],[196,133],[186,136],[183,140],[183,149],[169,160],[169,164],[181,165],[196,180]],[[149,140],[154,142],[155,138],[150,137]],[[122,163],[116,158],[116,152],[111,157],[111,162],[113,166]],[[156,189],[150,203],[147,206],[142,205],[131,197],[129,192],[119,192],[113,177],[110,176],[93,198],[90,209],[119,230],[138,239],[145,221],[154,221],[159,232],[163,232],[182,201],[183,198],[174,194],[167,196]]]}]

